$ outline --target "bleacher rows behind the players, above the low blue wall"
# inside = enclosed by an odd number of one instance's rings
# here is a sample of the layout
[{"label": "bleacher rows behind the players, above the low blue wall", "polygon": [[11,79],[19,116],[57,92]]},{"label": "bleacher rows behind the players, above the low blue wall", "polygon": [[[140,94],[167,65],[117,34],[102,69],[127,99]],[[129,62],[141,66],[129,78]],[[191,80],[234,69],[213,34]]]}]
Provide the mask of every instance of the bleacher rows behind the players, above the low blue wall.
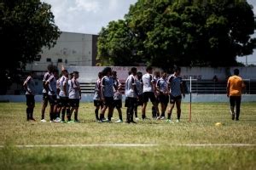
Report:
[{"label": "bleacher rows behind the players, above the low blue wall", "polygon": [[[189,88],[189,80],[185,80]],[[243,94],[256,94],[256,81],[245,80],[246,89]],[[93,94],[95,82],[80,82],[82,94]],[[226,94],[227,82],[219,81],[213,82],[212,80],[197,80],[192,81],[191,92],[193,94]],[[125,82],[122,82],[121,92],[124,94]]]}]

